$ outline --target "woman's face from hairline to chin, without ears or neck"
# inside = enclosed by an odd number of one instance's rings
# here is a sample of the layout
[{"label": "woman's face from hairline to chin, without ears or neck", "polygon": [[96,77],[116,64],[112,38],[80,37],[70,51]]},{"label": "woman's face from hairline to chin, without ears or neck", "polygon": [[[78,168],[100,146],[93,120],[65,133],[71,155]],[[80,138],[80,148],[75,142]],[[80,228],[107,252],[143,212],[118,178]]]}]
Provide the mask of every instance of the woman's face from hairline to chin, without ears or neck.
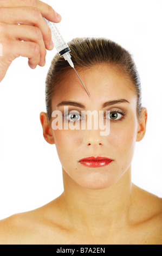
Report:
[{"label": "woman's face from hairline to chin, without ears or neck", "polygon": [[[92,130],[81,128],[79,130],[54,130],[51,128],[51,133],[62,168],[68,174],[68,178],[73,179],[82,187],[107,188],[115,184],[126,170],[131,168],[135,142],[138,141],[137,96],[131,89],[131,81],[106,65],[78,70],[78,73],[90,97],[72,70],[70,75],[64,78],[60,92],[56,92],[53,97],[52,111],[59,110],[63,114],[64,106],[57,106],[62,101],[75,101],[85,105],[85,109],[68,105],[68,111],[71,113],[62,117],[62,124],[67,124],[68,118],[71,118],[72,122],[77,122],[75,123],[77,127],[81,122],[81,111],[96,110],[98,113],[103,111],[100,118],[110,120],[109,134],[101,136],[100,129],[94,130],[93,119]],[[102,108],[103,103],[107,101],[121,99],[129,103],[115,103]],[[80,117],[73,115],[76,111],[80,113]],[[105,111],[113,112],[113,114],[106,115]],[[52,120],[54,119],[53,117]],[[102,167],[87,167],[79,160],[88,156],[103,156],[113,161]]]}]

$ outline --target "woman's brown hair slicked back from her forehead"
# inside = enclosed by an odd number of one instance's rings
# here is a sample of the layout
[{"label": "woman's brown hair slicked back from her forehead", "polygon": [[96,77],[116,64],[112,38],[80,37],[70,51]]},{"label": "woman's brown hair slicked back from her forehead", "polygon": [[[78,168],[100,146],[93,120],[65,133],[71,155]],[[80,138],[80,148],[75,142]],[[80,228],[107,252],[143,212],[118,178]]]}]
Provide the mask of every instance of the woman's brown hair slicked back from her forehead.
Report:
[{"label": "woman's brown hair slicked back from her forehead", "polygon": [[[131,88],[137,94],[137,116],[141,113],[141,83],[131,54],[116,42],[105,38],[75,38],[68,42],[75,68],[87,69],[96,64],[108,64],[122,72],[131,80]],[[46,78],[46,110],[51,123],[51,100],[60,88],[64,75],[72,70],[67,60],[59,56],[53,58]]]}]

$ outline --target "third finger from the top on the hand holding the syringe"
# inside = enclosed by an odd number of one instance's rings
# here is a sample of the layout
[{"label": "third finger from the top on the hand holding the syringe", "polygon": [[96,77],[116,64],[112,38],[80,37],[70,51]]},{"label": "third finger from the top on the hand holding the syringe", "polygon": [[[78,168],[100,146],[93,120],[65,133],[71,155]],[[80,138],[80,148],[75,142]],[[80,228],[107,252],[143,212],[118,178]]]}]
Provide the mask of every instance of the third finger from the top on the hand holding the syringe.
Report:
[{"label": "third finger from the top on the hand holding the syringe", "polygon": [[37,63],[40,66],[44,66],[44,60],[47,54],[46,48],[44,47],[44,41],[42,33],[39,28],[28,25],[5,25],[6,35],[10,39],[23,40],[36,42],[40,47],[40,62]]}]

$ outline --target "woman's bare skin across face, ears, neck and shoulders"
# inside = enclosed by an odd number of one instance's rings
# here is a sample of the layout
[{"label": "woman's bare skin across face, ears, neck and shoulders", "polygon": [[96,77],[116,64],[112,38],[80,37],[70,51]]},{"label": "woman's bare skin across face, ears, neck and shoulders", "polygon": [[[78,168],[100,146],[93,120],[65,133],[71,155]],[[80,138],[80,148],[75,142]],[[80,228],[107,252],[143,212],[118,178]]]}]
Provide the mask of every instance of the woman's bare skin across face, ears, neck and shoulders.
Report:
[{"label": "woman's bare skin across face, ears, neck and shoulders", "polygon": [[[109,135],[100,136],[99,130],[53,130],[46,113],[41,112],[44,139],[55,143],[62,164],[64,191],[41,208],[0,221],[0,243],[161,244],[162,200],[131,182],[134,147],[145,135],[147,110],[142,109],[138,121],[130,81],[111,67],[97,65],[78,72],[90,99],[75,74],[70,74],[63,81],[64,93],[60,90],[54,95],[53,110],[62,108],[56,107],[62,100],[82,102],[86,109],[99,110],[106,100],[120,97],[129,103],[107,110],[125,109],[125,118],[111,122]],[[82,166],[78,160],[88,155],[111,157],[113,164]]]}]

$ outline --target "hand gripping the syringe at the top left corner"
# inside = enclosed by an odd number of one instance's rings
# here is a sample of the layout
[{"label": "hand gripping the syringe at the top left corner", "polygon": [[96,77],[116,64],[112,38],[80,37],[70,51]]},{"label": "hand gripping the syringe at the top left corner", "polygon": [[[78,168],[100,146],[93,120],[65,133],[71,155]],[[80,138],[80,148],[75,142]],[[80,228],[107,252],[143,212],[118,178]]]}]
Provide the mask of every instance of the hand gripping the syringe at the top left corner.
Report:
[{"label": "hand gripping the syringe at the top left corner", "polygon": [[43,17],[55,23],[61,21],[61,16],[42,1],[0,0],[0,82],[17,57],[27,57],[31,69],[45,65],[46,49],[54,46]]}]

